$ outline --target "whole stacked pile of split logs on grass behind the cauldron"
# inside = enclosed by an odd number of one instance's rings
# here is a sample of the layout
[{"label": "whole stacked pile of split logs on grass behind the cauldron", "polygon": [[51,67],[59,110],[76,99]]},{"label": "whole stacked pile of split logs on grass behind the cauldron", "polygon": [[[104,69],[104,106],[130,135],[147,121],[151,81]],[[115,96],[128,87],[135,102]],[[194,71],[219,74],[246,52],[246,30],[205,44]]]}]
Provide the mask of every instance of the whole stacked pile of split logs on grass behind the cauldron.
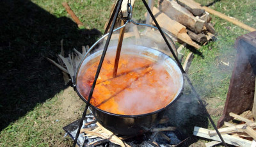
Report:
[{"label": "whole stacked pile of split logs on grass behind the cauldron", "polygon": [[216,39],[211,16],[193,0],[159,0],[152,12],[163,29],[195,49]]}]

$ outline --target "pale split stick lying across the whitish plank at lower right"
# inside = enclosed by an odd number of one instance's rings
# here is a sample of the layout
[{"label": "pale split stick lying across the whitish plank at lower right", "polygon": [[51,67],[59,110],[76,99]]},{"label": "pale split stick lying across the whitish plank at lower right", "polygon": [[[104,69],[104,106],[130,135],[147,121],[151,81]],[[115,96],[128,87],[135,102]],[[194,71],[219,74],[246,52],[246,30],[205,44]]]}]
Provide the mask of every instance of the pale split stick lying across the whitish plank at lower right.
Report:
[{"label": "pale split stick lying across the whitish plank at lower right", "polygon": [[[252,128],[256,128],[256,123],[247,123],[247,124],[242,124],[242,125],[235,125],[232,127],[227,127],[227,128],[220,128],[218,129],[220,134],[228,134],[228,133],[233,133],[233,132],[243,132],[243,127],[248,126]],[[209,135],[216,135],[217,132],[216,130],[210,130]]]}]

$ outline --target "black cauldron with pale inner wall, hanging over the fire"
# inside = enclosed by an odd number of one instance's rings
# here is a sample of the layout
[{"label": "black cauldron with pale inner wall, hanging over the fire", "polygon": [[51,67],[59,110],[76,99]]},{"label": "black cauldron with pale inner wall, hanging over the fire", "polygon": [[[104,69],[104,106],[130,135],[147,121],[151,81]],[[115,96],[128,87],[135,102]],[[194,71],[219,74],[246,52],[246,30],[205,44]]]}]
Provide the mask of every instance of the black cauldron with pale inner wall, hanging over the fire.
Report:
[{"label": "black cauldron with pale inner wall, hanging over the fire", "polygon": [[[115,53],[116,47],[109,47],[108,52]],[[108,54],[107,52],[107,54]],[[95,62],[97,59],[100,58],[102,54],[102,50],[99,50],[92,55],[88,56],[88,58],[85,58],[80,64],[80,66],[77,68],[77,74],[76,74],[76,91],[79,97],[87,103],[86,99],[81,95],[79,89],[79,82],[77,81],[77,77],[81,74],[80,68],[85,67],[90,62]],[[150,112],[147,114],[139,114],[139,115],[121,115],[121,114],[113,114],[111,112],[103,111],[97,107],[94,107],[93,105],[90,105],[93,115],[95,116],[96,120],[99,121],[99,123],[107,128],[108,130],[112,131],[115,134],[121,134],[121,135],[135,135],[135,134],[142,134],[143,132],[147,132],[152,127],[156,126],[157,123],[163,118],[164,112],[166,112],[166,109],[168,109],[177,98],[179,98],[180,93],[184,86],[184,77],[182,75],[182,72],[179,69],[179,66],[177,66],[177,63],[164,54],[163,52],[160,52],[155,49],[151,49],[148,47],[143,47],[139,45],[129,45],[122,47],[122,54],[128,54],[132,56],[139,56],[141,58],[148,59],[150,61],[157,61],[157,59],[161,58],[163,60],[164,68],[166,71],[170,74],[170,76],[173,79],[173,82],[176,86],[178,86],[177,93],[175,97],[173,98],[172,102],[170,102],[166,107],[159,109],[154,112]],[[173,77],[175,76],[175,77]],[[161,95],[161,93],[159,93]]]}]

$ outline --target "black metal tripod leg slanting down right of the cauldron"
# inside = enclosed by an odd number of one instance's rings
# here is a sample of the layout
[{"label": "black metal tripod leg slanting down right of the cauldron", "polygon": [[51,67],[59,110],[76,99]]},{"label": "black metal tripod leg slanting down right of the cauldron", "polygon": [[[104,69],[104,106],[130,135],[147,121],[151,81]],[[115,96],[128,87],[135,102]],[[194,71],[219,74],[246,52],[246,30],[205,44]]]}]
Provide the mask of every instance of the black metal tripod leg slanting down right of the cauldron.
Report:
[{"label": "black metal tripod leg slanting down right of the cauldron", "polygon": [[173,58],[174,58],[175,61],[177,62],[177,65],[179,66],[180,70],[182,71],[182,73],[183,73],[184,76],[186,77],[186,79],[187,79],[187,81],[188,81],[188,83],[189,83],[189,86],[191,87],[193,93],[195,94],[196,98],[198,99],[198,101],[200,102],[200,104],[202,105],[202,107],[204,108],[205,114],[207,115],[207,117],[208,117],[209,120],[211,121],[212,126],[214,127],[214,129],[216,130],[217,134],[219,135],[219,137],[220,137],[220,139],[221,139],[223,145],[227,147],[227,144],[225,143],[224,139],[222,138],[220,132],[218,131],[218,128],[217,128],[216,125],[214,124],[214,121],[212,120],[212,118],[211,118],[210,114],[208,113],[207,109],[205,108],[205,105],[204,105],[202,99],[200,98],[200,96],[199,96],[198,93],[196,92],[195,87],[193,86],[192,82],[191,82],[190,79],[188,78],[188,75],[186,74],[185,70],[183,69],[183,67],[182,67],[182,65],[181,65],[181,63],[180,63],[180,61],[179,61],[179,59],[178,59],[177,56],[174,54],[174,51],[173,51],[171,45],[169,44],[168,40],[167,40],[166,37],[164,36],[164,33],[163,33],[161,27],[159,26],[159,24],[158,24],[156,18],[154,17],[153,13],[151,12],[150,8],[148,7],[147,2],[146,2],[145,0],[142,0],[142,1],[143,1],[143,3],[144,3],[145,7],[146,7],[147,10],[148,10],[148,13],[150,14],[150,16],[152,17],[152,19],[154,20],[154,22],[155,22],[155,24],[156,24],[156,26],[157,26],[159,32],[160,32],[161,35],[163,36],[166,45],[168,46],[168,48],[169,48],[170,51],[172,52]]}]

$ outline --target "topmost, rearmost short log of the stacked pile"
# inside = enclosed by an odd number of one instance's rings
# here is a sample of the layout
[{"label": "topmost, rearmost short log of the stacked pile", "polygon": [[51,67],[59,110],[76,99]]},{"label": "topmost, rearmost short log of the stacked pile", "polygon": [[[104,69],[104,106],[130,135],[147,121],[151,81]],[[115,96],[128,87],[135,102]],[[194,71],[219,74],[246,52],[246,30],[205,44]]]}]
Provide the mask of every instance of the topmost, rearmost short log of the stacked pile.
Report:
[{"label": "topmost, rearmost short log of the stacked pile", "polygon": [[202,15],[205,12],[204,8],[193,0],[178,0],[177,2],[196,16]]}]

